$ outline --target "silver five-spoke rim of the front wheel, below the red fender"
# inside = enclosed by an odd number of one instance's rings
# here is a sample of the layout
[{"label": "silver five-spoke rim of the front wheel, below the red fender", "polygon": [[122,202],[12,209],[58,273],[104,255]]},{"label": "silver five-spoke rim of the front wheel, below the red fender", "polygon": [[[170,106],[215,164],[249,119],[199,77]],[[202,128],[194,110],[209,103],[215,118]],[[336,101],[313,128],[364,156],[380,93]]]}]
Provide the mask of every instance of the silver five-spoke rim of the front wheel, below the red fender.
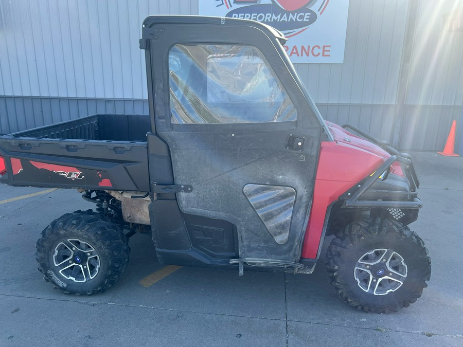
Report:
[{"label": "silver five-spoke rim of the front wheel, below the red fender", "polygon": [[366,293],[387,295],[403,285],[407,271],[407,264],[398,252],[376,248],[363,254],[357,261],[354,278]]}]

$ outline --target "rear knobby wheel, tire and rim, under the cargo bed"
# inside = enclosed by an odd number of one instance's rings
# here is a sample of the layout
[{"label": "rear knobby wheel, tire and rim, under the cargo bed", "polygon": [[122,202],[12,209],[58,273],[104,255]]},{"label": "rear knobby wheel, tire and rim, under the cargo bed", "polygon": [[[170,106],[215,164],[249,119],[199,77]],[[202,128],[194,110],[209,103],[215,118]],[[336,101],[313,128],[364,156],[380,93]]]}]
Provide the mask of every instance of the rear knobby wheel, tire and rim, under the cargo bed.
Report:
[{"label": "rear knobby wheel, tire and rim, under the cargo bed", "polygon": [[129,262],[129,252],[119,227],[89,210],[51,222],[37,241],[35,259],[44,279],[56,288],[91,295],[116,283]]}]

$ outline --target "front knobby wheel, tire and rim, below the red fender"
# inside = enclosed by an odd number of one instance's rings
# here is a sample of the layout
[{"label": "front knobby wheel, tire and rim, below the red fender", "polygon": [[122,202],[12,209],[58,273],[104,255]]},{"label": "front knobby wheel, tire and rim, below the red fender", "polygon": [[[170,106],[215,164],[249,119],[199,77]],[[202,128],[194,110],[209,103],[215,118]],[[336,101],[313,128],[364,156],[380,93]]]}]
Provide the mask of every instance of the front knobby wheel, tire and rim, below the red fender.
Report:
[{"label": "front knobby wheel, tire and rim, below the red fender", "polygon": [[419,236],[376,218],[349,224],[326,255],[330,284],[346,303],[365,312],[408,307],[428,286],[431,259]]}]

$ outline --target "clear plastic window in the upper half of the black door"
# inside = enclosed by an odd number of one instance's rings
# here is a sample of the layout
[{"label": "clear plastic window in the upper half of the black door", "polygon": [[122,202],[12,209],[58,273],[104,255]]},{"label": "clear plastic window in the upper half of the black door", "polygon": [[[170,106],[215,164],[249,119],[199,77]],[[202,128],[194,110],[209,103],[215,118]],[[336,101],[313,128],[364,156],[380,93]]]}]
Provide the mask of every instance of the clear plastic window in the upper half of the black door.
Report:
[{"label": "clear plastic window in the upper half of the black door", "polygon": [[169,75],[172,123],[296,120],[294,104],[255,47],[175,45]]}]

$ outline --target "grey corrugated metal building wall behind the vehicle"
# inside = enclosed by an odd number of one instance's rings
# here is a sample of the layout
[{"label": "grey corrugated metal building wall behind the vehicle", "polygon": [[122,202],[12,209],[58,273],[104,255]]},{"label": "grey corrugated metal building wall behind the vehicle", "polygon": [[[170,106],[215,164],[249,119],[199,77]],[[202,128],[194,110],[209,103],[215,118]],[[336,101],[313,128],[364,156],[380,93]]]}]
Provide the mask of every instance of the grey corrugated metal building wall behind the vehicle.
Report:
[{"label": "grey corrugated metal building wall behind the vehicle", "polygon": [[[147,114],[141,23],[198,14],[198,1],[0,0],[0,134]],[[296,64],[320,113],[402,149],[441,150],[463,104],[463,33],[446,27],[458,5],[350,0],[344,64]]]}]

